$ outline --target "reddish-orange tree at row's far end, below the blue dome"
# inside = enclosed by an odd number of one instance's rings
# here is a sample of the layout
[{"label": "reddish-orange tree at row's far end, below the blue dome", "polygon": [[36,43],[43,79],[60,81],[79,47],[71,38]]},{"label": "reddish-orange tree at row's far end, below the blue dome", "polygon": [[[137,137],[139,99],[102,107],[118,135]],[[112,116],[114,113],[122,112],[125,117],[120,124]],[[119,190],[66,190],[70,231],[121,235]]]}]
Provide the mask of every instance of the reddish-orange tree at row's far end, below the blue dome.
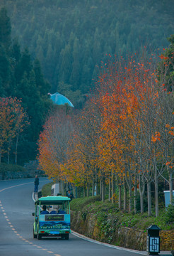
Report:
[{"label": "reddish-orange tree at row's far end, below the blue dome", "polygon": [[63,170],[72,129],[71,117],[66,116],[64,110],[54,112],[45,123],[38,142],[37,158],[49,178],[66,181]]}]

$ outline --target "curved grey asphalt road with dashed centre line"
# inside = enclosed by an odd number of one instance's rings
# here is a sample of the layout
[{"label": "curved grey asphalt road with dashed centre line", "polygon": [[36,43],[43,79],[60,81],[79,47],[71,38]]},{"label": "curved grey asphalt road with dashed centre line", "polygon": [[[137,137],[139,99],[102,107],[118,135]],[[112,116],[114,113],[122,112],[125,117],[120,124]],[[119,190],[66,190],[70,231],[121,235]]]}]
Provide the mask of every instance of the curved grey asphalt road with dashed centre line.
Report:
[{"label": "curved grey asphalt road with dashed centre line", "polygon": [[[40,178],[40,188],[50,181]],[[0,181],[1,256],[133,256],[146,254],[86,240],[76,233],[69,240],[33,239],[34,178]]]}]

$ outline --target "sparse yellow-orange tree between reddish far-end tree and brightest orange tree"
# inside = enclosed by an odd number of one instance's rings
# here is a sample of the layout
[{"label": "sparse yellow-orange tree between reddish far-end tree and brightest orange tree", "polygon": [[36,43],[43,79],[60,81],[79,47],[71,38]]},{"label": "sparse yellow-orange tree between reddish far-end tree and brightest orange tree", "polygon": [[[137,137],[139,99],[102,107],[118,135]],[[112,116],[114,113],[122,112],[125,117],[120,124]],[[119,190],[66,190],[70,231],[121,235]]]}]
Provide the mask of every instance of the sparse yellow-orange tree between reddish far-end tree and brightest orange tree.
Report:
[{"label": "sparse yellow-orange tree between reddish far-end tree and brightest orange tree", "polygon": [[[79,152],[79,157],[83,163],[83,169],[86,172],[88,182],[86,182],[87,188],[89,183],[92,183],[92,194],[94,193],[94,187],[98,188],[98,133],[100,131],[100,110],[96,102],[96,98],[89,100],[88,104],[82,112],[77,116],[74,145],[76,154]],[[87,174],[88,173],[88,174]],[[88,189],[87,189],[88,191]],[[88,193],[88,192],[87,192]],[[98,191],[96,191],[98,194]]]}]

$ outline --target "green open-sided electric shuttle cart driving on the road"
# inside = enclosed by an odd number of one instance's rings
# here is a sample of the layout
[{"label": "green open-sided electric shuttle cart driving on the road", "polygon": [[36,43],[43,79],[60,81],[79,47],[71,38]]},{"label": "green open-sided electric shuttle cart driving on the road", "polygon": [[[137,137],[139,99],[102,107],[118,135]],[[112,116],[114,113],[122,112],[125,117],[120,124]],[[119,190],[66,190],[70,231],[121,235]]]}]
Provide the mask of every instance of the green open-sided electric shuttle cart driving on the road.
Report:
[{"label": "green open-sided electric shuttle cart driving on the road", "polygon": [[33,238],[43,237],[69,239],[70,198],[67,196],[47,196],[35,201],[35,222]]}]

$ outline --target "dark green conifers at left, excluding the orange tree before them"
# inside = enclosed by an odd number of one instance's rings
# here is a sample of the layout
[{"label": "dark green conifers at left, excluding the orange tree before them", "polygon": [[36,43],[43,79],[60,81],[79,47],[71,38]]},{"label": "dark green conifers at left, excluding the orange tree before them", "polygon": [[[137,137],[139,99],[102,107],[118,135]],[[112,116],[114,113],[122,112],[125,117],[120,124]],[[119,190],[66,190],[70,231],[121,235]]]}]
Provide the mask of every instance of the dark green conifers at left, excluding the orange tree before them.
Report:
[{"label": "dark green conifers at left, excluding the orange tree before them", "polygon": [[[21,53],[17,39],[11,41],[10,19],[6,9],[2,8],[0,10],[0,97],[11,96],[20,99],[30,123],[18,141],[20,164],[35,159],[37,154],[37,139],[52,106],[48,92],[50,92],[50,84],[42,75],[39,60],[32,60],[28,48]],[[13,163],[14,154],[11,154]],[[6,162],[6,156],[2,161]]]}]

